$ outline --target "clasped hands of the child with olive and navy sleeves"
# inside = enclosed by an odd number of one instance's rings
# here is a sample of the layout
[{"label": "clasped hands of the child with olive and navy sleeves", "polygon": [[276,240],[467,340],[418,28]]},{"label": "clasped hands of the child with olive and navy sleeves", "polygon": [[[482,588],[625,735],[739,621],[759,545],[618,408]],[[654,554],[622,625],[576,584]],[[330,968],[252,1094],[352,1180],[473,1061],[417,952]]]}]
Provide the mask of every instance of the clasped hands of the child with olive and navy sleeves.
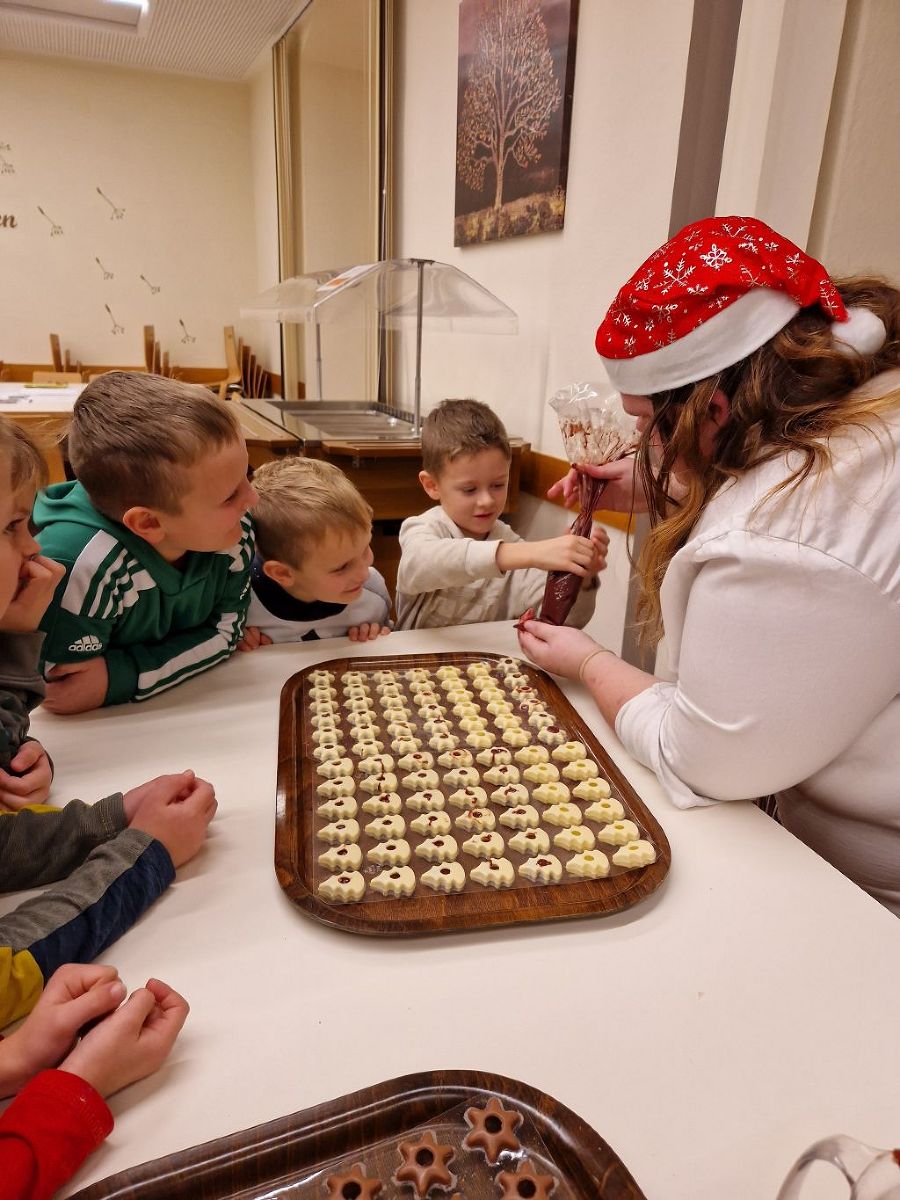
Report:
[{"label": "clasped hands of the child with olive and navy sleeves", "polygon": [[125,796],[130,827],[161,841],[175,868],[200,848],[217,806],[212,785],[192,770],[158,775]]}]

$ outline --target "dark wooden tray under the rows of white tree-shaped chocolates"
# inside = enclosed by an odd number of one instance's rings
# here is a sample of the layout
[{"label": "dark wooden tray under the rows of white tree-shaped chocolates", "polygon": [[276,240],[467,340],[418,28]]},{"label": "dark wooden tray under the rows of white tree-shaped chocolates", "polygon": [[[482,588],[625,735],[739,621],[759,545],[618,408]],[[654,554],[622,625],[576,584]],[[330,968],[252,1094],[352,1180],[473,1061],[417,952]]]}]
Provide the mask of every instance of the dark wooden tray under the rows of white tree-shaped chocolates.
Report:
[{"label": "dark wooden tray under the rows of white tree-shaped chocolates", "polygon": [[[642,836],[648,836],[656,847],[656,862],[634,870],[613,866],[610,875],[602,880],[571,880],[564,876],[560,883],[533,884],[517,877],[511,888],[502,890],[481,888],[467,882],[466,889],[456,894],[443,895],[427,892],[425,887],[416,887],[413,896],[392,899],[382,898],[370,889],[361,902],[343,905],[329,902],[317,894],[317,882],[328,872],[318,865],[318,854],[324,846],[316,838],[317,828],[323,823],[323,818],[316,814],[319,803],[316,785],[322,780],[317,779],[314,773],[312,731],[304,721],[310,676],[316,671],[332,672],[340,692],[341,674],[346,671],[361,671],[365,674],[376,671],[400,673],[412,667],[424,667],[433,672],[450,664],[464,668],[473,662],[497,664],[506,658],[506,655],[473,652],[330,659],[299,671],[287,680],[281,692],[278,728],[275,869],[287,896],[307,916],[355,934],[373,936],[439,934],[458,929],[620,912],[646,899],[660,886],[668,871],[671,851],[658,821],[554,680],[532,664],[516,660],[518,668],[538,690],[560,727],[569,731],[571,739],[582,742],[590,756],[596,760],[611,785],[612,794],[624,805],[625,816],[635,821]],[[349,734],[344,733],[344,737]],[[390,746],[386,750],[390,752]],[[497,810],[494,804],[487,806]],[[358,820],[364,824],[368,817],[358,814]],[[551,848],[551,853],[559,854],[559,851]],[[409,865],[414,868],[416,875],[428,866],[421,859],[416,862],[415,856]],[[474,865],[474,859],[469,865]],[[364,863],[361,870],[371,872],[372,868],[367,868]]]}]

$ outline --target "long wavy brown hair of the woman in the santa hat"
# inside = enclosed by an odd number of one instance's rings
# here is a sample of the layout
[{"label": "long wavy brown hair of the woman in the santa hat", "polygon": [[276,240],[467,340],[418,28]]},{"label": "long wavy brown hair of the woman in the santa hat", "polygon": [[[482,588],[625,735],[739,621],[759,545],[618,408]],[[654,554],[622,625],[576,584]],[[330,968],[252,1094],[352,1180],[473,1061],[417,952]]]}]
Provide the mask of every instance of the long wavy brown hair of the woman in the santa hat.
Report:
[{"label": "long wavy brown hair of the woman in the santa hat", "polygon": [[[799,466],[770,494],[790,493],[830,466],[832,437],[850,427],[875,432],[877,424],[883,425],[881,414],[900,404],[900,391],[878,398],[854,394],[880,372],[900,366],[900,290],[863,276],[835,284],[846,305],[870,308],[884,323],[887,337],[875,354],[841,354],[828,317],[818,308],[802,308],[758,350],[719,374],[649,397],[653,420],[635,467],[650,516],[637,563],[642,584],[637,619],[644,642],[662,634],[660,587],[668,563],[728,480],[797,451]],[[731,408],[707,455],[700,433],[716,389]]]}]

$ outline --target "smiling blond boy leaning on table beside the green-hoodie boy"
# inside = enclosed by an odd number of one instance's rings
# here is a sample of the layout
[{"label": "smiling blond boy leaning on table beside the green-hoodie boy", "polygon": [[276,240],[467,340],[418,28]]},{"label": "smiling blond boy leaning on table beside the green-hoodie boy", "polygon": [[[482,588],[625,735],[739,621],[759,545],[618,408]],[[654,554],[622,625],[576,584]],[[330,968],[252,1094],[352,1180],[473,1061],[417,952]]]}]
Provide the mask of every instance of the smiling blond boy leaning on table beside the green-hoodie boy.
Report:
[{"label": "smiling blond boy leaning on table beside the green-hoodie boy", "polygon": [[257,556],[240,649],[390,632],[391,598],[372,566],[372,509],[343,472],[281,458],[253,476]]}]

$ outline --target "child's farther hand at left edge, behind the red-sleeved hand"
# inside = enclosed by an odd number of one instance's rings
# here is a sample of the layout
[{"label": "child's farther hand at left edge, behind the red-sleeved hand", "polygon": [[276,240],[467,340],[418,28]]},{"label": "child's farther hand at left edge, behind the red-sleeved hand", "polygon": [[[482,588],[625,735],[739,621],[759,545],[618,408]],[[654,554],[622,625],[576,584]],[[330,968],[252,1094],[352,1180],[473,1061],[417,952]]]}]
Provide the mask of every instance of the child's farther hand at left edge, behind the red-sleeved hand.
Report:
[{"label": "child's farther hand at left edge, behind the red-sleeved hand", "polygon": [[115,967],[67,962],[55,971],[23,1025],[0,1044],[0,1096],[12,1096],[38,1070],[55,1067],[82,1026],[125,1000]]}]

